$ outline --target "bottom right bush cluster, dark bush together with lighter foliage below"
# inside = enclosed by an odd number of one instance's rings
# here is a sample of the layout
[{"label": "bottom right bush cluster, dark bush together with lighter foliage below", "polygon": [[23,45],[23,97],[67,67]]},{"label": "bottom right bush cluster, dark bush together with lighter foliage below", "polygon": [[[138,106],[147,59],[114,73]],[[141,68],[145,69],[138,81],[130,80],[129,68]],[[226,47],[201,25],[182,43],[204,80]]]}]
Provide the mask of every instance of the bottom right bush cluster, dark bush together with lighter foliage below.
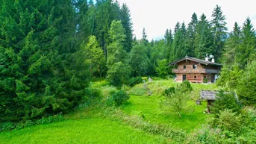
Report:
[{"label": "bottom right bush cluster, dark bush together with lighter foliage below", "polygon": [[207,125],[192,134],[187,143],[256,143],[255,107],[241,107],[234,93],[220,91],[210,107]]}]

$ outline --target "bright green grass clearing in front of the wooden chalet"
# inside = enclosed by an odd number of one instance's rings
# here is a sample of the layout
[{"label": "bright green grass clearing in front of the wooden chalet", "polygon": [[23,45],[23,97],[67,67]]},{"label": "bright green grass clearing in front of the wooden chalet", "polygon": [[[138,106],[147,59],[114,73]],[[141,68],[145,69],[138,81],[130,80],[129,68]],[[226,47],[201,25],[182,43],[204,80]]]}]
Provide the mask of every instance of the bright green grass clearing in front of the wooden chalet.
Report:
[{"label": "bright green grass clearing in front of the wooden chalet", "polygon": [[[123,107],[123,111],[130,115],[144,116],[145,120],[156,122],[158,124],[172,125],[176,128],[182,128],[188,132],[204,124],[207,114],[203,113],[206,109],[206,102],[202,101],[202,105],[196,105],[195,101],[190,101],[195,107],[193,113],[184,113],[181,119],[175,113],[164,113],[160,109],[160,93],[168,87],[173,87],[177,83],[173,80],[157,80],[149,84],[148,87],[152,90],[153,96],[131,96],[130,100]],[[193,90],[198,95],[200,90],[217,90],[215,84],[192,84]],[[134,90],[143,88],[143,84],[135,86]]]}]

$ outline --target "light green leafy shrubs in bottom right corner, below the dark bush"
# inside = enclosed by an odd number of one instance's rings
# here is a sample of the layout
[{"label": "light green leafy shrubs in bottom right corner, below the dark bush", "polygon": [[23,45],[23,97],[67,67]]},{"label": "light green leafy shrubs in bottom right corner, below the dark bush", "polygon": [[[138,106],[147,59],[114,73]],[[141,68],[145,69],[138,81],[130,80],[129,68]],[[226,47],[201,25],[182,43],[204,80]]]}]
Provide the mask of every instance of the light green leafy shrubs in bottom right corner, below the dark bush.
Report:
[{"label": "light green leafy shrubs in bottom right corner, below the dark bush", "polygon": [[190,134],[186,143],[256,143],[256,111],[245,107],[240,114],[222,110],[219,117],[210,116],[208,124]]}]

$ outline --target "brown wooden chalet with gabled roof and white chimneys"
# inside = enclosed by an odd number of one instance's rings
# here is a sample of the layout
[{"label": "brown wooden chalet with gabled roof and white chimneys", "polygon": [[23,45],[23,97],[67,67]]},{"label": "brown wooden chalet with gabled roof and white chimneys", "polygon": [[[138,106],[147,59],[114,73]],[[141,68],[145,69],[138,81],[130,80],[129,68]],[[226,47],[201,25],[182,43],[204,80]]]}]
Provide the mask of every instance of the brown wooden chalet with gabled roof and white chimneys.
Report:
[{"label": "brown wooden chalet with gabled roof and white chimneys", "polygon": [[175,81],[190,81],[191,83],[202,83],[207,78],[208,83],[215,83],[221,69],[221,64],[215,63],[213,56],[211,61],[209,57],[200,60],[194,57],[184,57],[175,62],[169,63],[169,66],[176,65],[177,69],[172,69],[176,74]]}]

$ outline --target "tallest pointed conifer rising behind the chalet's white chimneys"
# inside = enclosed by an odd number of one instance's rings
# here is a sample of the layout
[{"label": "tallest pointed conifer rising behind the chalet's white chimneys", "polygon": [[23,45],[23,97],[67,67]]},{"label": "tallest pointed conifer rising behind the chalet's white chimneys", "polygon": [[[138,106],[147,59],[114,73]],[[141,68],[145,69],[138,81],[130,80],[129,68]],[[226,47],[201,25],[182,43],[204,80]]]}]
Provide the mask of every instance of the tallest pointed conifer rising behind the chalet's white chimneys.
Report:
[{"label": "tallest pointed conifer rising behind the chalet's white chimneys", "polygon": [[211,21],[212,29],[213,29],[213,35],[214,35],[214,46],[215,51],[213,51],[213,54],[218,60],[218,58],[222,54],[222,50],[224,48],[224,42],[227,37],[227,30],[228,28],[225,26],[225,16],[222,15],[222,10],[219,5],[216,5],[216,7],[213,10],[212,13],[213,20]]}]

